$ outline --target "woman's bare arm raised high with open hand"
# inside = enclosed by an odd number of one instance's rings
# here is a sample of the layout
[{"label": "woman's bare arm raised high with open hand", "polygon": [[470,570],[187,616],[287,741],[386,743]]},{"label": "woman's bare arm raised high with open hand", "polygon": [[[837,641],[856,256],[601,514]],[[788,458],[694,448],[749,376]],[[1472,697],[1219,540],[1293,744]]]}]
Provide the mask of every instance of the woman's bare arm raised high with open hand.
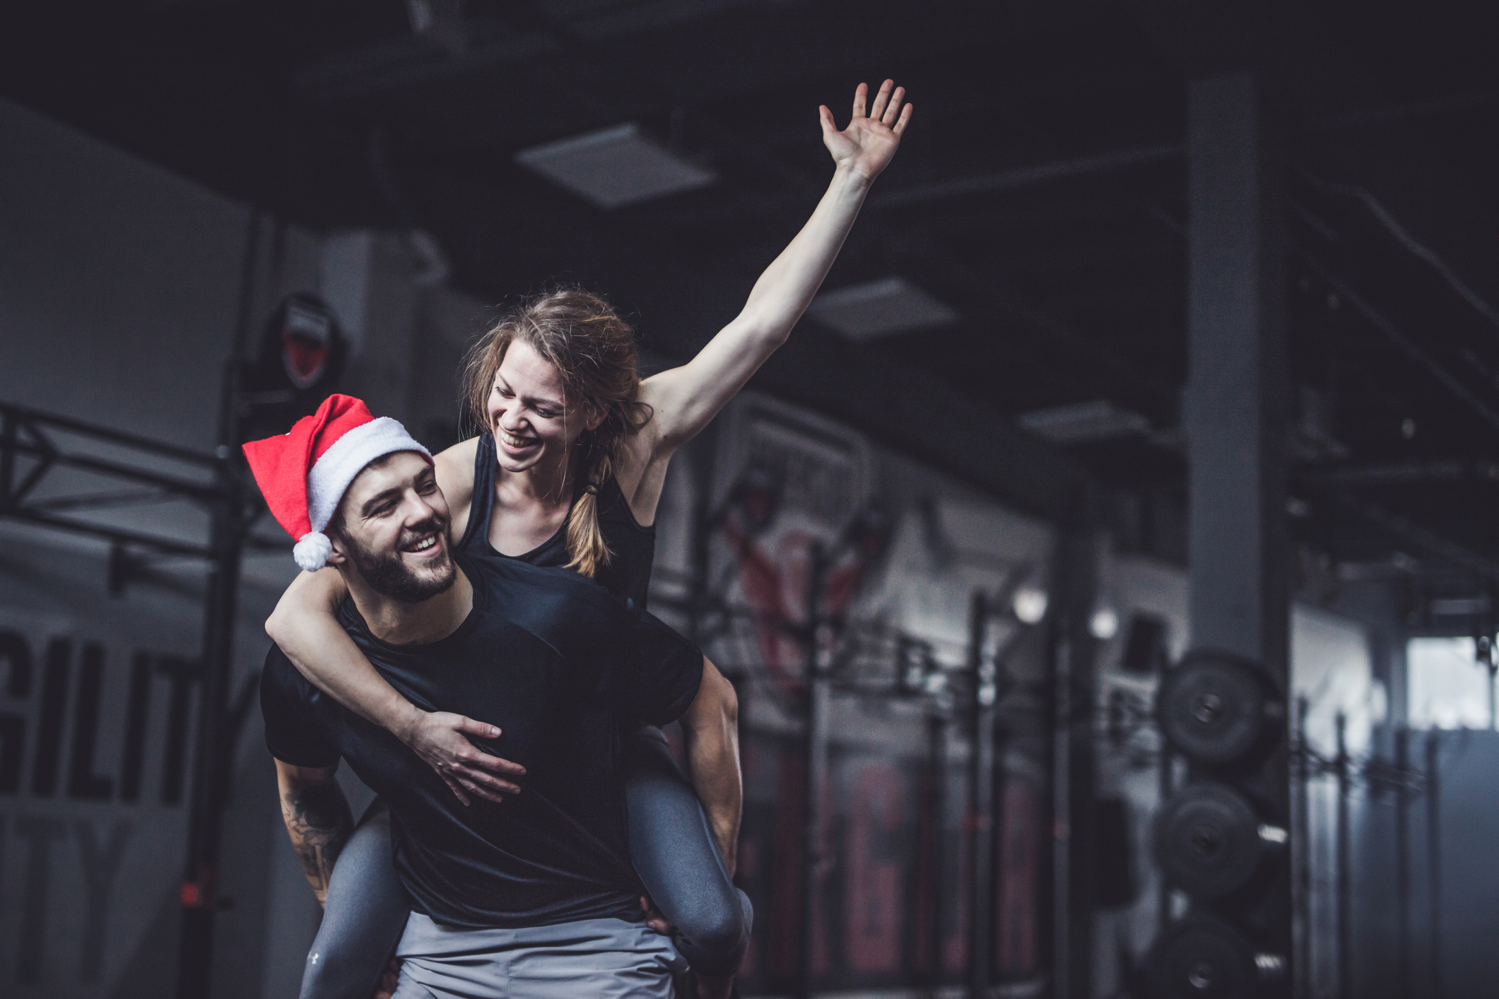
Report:
[{"label": "woman's bare arm raised high with open hand", "polygon": [[884,81],[865,114],[868,96],[868,87],[859,84],[853,118],[842,132],[833,124],[832,111],[818,108],[823,144],[836,165],[832,184],[791,244],[755,282],[739,316],[690,362],[645,382],[642,400],[652,406],[654,418],[645,430],[651,434],[651,446],[645,449],[648,454],[637,452],[639,458],[670,455],[691,440],[785,343],[811,304],[869,186],[895,156],[911,120],[911,105],[901,106],[905,88],[893,81]]}]

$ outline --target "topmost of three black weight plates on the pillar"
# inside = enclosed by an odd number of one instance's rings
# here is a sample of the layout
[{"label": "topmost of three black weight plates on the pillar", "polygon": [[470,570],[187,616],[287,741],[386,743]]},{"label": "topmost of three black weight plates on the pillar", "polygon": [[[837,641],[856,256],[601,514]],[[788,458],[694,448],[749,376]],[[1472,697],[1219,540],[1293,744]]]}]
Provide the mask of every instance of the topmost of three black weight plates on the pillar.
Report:
[{"label": "topmost of three black weight plates on the pillar", "polygon": [[1187,759],[1228,764],[1261,744],[1268,704],[1268,684],[1258,666],[1219,653],[1193,653],[1162,678],[1156,720]]}]

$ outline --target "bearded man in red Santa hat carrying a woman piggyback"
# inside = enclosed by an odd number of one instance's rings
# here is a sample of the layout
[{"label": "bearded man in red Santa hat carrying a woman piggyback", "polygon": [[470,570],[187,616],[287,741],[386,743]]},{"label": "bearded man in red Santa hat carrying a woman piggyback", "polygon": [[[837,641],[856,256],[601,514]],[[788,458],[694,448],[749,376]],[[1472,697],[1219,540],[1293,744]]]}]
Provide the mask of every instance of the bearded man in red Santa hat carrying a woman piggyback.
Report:
[{"label": "bearded man in red Santa hat carrying a woman piggyback", "polygon": [[[348,583],[340,622],[370,662],[426,710],[498,722],[481,747],[525,774],[502,804],[463,806],[390,732],[310,687],[279,650],[267,656],[265,740],[319,899],[352,830],[339,759],[390,806],[415,903],[396,999],[669,996],[682,960],[642,921],[615,731],[676,717],[690,731],[721,728],[727,681],[664,625],[573,572],[454,559],[430,457],[358,400],[334,397],[246,454],[298,538],[298,560],[325,559]],[[738,788],[732,755],[693,762],[696,785],[715,783],[720,798],[726,780]]]}]

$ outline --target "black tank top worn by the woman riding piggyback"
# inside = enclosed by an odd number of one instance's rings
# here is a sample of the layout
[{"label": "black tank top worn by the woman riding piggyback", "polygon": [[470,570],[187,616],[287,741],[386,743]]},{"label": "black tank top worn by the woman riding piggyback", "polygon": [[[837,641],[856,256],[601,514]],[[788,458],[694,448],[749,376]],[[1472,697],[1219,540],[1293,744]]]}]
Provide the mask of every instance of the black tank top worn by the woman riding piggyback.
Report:
[{"label": "black tank top worn by the woman riding piggyback", "polygon": [[[573,520],[568,511],[556,533],[523,556],[507,556],[489,544],[489,524],[495,518],[495,473],[499,461],[495,457],[495,436],[478,439],[474,454],[474,500],[469,508],[469,523],[459,539],[457,550],[492,559],[517,559],[537,566],[565,566],[567,526]],[[582,496],[582,493],[579,493]],[[577,499],[573,500],[574,509]],[[630,502],[615,476],[598,487],[598,527],[609,545],[609,565],[601,566],[595,580],[615,596],[628,596],[636,607],[645,608],[646,589],[651,583],[651,565],[655,562],[655,524],[642,527],[630,511]]]}]

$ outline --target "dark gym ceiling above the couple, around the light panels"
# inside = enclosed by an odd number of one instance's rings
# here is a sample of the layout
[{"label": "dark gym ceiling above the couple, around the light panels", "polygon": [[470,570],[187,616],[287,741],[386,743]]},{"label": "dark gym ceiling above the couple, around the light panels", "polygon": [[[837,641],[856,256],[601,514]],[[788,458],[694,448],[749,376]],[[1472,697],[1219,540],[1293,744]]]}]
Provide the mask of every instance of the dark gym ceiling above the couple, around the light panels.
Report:
[{"label": "dark gym ceiling above the couple, around the light panels", "polygon": [[[481,300],[579,280],[681,356],[824,187],[817,105],[845,120],[856,82],[893,76],[916,120],[827,286],[898,276],[956,318],[860,343],[809,319],[796,365],[826,367],[767,377],[907,451],[941,440],[949,467],[1003,436],[1019,457],[989,484],[1022,506],[1046,503],[1015,485],[1030,464],[1084,469],[1108,517],[1132,511],[1126,547],[1180,559],[1186,85],[1268,66],[1297,535],[1345,577],[1499,586],[1483,4],[469,0],[456,21],[451,0],[412,3],[435,28],[414,34],[403,0],[12,4],[0,96],[297,223],[423,228]],[[606,211],[516,163],[627,121],[717,181]],[[917,395],[914,421],[881,424],[883,394]],[[1091,439],[1006,425],[1084,403]]]}]

